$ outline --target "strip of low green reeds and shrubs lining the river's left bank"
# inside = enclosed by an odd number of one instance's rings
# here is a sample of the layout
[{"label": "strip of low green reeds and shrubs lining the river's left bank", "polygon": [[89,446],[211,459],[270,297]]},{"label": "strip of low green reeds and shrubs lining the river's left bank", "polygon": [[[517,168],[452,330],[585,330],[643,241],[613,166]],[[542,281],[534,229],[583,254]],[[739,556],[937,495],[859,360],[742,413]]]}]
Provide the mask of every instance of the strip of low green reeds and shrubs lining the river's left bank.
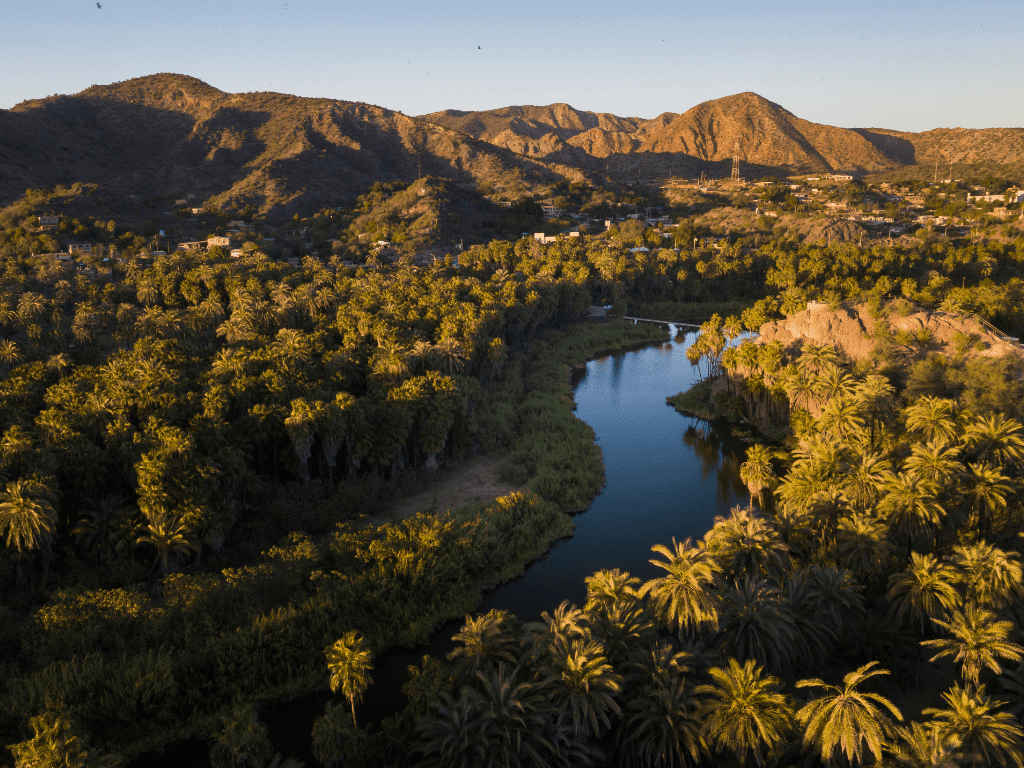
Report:
[{"label": "strip of low green reeds and shrubs lining the river's left bank", "polygon": [[[485,587],[571,535],[570,514],[600,490],[600,450],[572,415],[571,367],[665,338],[651,325],[580,325],[512,356],[471,431],[481,450],[508,452],[500,474],[522,495],[381,525],[355,519],[325,542],[294,532],[259,564],[169,577],[159,598],[137,600],[135,615],[122,618],[121,634],[143,635],[133,638],[137,651],[86,654],[17,681],[5,696],[8,719],[44,706],[44,693],[62,696],[93,744],[134,756],[208,737],[238,700],[324,690],[323,649],[346,630],[362,632],[377,652],[426,642],[442,622],[473,610]],[[135,702],[110,695],[131,684],[145,701],[141,716]]]}]

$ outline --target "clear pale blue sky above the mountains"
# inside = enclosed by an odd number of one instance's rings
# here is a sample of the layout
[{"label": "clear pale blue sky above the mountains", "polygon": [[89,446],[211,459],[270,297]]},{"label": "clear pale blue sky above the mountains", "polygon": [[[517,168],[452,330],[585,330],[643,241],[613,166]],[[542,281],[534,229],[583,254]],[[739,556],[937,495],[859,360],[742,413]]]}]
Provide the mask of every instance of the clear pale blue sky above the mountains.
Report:
[{"label": "clear pale blue sky above the mountains", "polygon": [[1024,126],[1024,3],[0,0],[0,108],[157,72],[420,115],[652,118],[756,91],[818,123]]}]

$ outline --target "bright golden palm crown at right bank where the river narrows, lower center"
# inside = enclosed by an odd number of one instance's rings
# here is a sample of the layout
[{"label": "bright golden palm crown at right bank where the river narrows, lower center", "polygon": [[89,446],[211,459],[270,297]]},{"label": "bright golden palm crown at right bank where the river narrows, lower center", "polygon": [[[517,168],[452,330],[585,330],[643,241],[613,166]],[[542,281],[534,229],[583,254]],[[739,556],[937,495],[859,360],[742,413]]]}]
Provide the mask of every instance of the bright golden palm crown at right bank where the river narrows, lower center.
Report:
[{"label": "bright golden palm crown at right bank where the river narrows, lower center", "polygon": [[665,560],[650,562],[668,574],[644,584],[639,594],[650,597],[654,612],[680,637],[684,632],[696,631],[702,624],[717,626],[717,599],[712,588],[718,563],[707,549],[692,546],[689,539],[680,544],[673,538],[672,547],[671,550],[664,544],[651,547],[651,552]]}]

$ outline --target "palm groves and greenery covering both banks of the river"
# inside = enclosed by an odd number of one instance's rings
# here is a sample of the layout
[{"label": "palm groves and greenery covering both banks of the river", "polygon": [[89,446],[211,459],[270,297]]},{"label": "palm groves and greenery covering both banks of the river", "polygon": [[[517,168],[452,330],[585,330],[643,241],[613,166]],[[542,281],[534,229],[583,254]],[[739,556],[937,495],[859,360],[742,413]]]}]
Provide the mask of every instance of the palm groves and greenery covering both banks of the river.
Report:
[{"label": "palm groves and greenery covering both banks of the river", "polygon": [[[592,302],[740,298],[757,328],[897,291],[1017,327],[1019,243],[495,242],[418,271],[214,250],[114,281],[26,255],[16,229],[0,722],[26,764],[214,730],[215,760],[269,761],[238,702],[329,683],[346,706],[311,734],[325,764],[1020,762],[1013,371],[987,372],[1009,392],[993,399],[955,378],[963,360],[907,386],[892,355],[871,371],[828,349],[723,357],[790,425],[784,452],[743,466],[762,511],[656,547],[663,579],[594,574],[585,606],[542,625],[467,618],[402,714],[356,725],[368,653],[471,610],[600,487],[563,365],[650,333],[584,333]],[[523,494],[359,519],[439,458],[499,447]],[[872,684],[913,689],[931,658],[959,679],[907,723]]]}]

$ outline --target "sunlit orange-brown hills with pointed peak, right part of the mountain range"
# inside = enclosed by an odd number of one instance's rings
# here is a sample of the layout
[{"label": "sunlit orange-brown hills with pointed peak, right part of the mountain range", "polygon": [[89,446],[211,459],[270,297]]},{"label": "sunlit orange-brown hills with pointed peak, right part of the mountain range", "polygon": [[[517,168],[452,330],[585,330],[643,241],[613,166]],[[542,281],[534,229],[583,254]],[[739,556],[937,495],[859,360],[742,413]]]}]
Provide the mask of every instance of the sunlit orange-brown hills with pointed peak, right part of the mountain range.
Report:
[{"label": "sunlit orange-brown hills with pointed peak, right part of the mountain range", "polygon": [[[423,118],[530,157],[630,173],[674,168],[721,173],[735,154],[754,173],[869,173],[936,159],[985,168],[1024,163],[1024,128],[925,133],[837,128],[798,118],[751,92],[653,120],[582,112],[565,103],[447,110]],[[566,144],[588,157],[573,157]]]}]

